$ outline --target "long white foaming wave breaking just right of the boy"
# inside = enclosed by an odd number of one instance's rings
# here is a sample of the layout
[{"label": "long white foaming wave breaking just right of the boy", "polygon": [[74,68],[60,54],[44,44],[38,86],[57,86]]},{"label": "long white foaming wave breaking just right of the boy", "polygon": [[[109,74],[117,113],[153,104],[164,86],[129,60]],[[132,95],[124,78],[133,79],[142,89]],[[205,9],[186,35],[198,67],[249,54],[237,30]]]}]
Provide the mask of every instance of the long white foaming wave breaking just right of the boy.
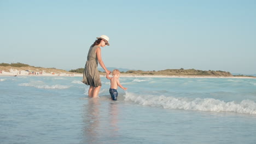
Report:
[{"label": "long white foaming wave breaking just right of the boy", "polygon": [[174,98],[164,95],[138,95],[129,92],[126,92],[124,97],[126,101],[130,100],[140,105],[161,106],[164,109],[256,114],[256,103],[253,100],[242,100],[241,103],[236,103],[235,101],[225,102],[212,98]]}]

